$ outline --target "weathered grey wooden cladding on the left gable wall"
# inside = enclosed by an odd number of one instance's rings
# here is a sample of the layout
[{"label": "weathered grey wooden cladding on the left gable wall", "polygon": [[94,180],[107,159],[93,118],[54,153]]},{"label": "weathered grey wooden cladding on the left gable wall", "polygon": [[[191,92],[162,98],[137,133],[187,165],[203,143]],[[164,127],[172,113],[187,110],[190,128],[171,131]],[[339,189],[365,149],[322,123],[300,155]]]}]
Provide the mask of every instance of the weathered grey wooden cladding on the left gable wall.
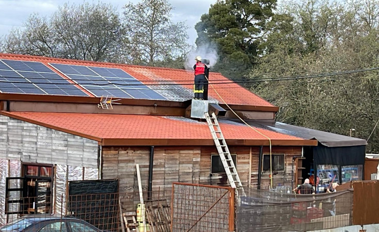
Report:
[{"label": "weathered grey wooden cladding on the left gable wall", "polygon": [[98,167],[98,142],[0,115],[0,159]]}]

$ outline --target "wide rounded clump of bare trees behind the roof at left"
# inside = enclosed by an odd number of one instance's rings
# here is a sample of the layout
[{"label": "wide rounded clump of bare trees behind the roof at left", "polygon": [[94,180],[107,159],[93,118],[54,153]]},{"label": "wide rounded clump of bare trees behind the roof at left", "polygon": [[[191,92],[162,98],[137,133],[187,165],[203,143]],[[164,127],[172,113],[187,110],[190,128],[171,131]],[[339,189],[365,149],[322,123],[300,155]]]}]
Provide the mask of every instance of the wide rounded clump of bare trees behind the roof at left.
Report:
[{"label": "wide rounded clump of bare trees behind the roof at left", "polygon": [[127,60],[121,20],[111,5],[65,4],[50,19],[32,15],[24,28],[6,36],[3,51],[77,60]]}]

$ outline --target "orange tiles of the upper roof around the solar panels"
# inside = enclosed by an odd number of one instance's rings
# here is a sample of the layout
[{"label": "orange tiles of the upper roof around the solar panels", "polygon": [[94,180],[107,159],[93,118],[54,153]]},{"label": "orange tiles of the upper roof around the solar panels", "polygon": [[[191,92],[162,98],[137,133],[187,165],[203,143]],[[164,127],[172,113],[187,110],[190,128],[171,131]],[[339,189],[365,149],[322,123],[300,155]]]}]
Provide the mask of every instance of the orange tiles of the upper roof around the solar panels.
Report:
[{"label": "orange tiles of the upper roof around the solar panels", "polygon": [[[134,78],[136,78],[137,80],[141,81],[144,84],[152,84],[151,82],[148,82],[151,80],[173,81],[174,83],[176,82],[177,84],[183,84],[183,83],[191,84],[191,85],[180,85],[180,87],[183,90],[188,90],[187,93],[184,95],[184,98],[186,98],[185,100],[188,100],[192,97],[190,91],[192,91],[192,88],[193,88],[192,86],[193,71],[169,69],[169,68],[134,66],[134,65],[125,65],[125,64],[91,62],[91,61],[66,60],[66,59],[47,58],[47,57],[39,57],[39,56],[13,55],[13,54],[0,54],[0,59],[42,62],[43,64],[47,65],[54,71],[56,70],[52,68],[49,65],[49,63],[95,66],[95,67],[104,67],[104,68],[118,68],[129,73]],[[224,80],[221,82],[229,81],[229,79],[223,77],[220,73],[210,73],[210,83],[212,83],[212,79]],[[182,82],[182,81],[188,81],[188,82]],[[217,83],[217,82],[218,81],[213,81],[213,83]],[[154,86],[152,86],[152,88],[154,89]],[[217,100],[220,103],[224,103],[223,102],[224,100],[227,104],[230,104],[230,105],[272,107],[273,111],[277,111],[277,107],[273,106],[269,102],[255,95],[254,93],[251,93],[250,91],[242,88],[236,83],[215,85],[215,88],[217,92],[220,94],[220,96],[222,97],[222,99],[211,88],[212,87],[209,86],[209,93],[208,93],[209,99]],[[175,97],[176,96],[174,95],[172,96],[172,98],[168,98],[168,100],[175,101]],[[178,96],[178,99],[180,99],[179,96]],[[183,99],[180,99],[179,101],[183,101]]]}]

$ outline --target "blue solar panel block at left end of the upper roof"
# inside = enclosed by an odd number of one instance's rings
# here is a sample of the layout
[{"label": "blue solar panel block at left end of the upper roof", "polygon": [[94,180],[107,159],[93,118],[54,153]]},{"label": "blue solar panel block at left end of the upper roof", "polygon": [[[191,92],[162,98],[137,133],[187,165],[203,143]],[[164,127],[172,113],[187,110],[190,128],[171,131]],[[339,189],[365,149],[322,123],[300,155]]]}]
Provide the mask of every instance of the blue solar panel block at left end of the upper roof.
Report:
[{"label": "blue solar panel block at left end of the upper roof", "polygon": [[88,96],[41,62],[0,60],[0,91]]}]

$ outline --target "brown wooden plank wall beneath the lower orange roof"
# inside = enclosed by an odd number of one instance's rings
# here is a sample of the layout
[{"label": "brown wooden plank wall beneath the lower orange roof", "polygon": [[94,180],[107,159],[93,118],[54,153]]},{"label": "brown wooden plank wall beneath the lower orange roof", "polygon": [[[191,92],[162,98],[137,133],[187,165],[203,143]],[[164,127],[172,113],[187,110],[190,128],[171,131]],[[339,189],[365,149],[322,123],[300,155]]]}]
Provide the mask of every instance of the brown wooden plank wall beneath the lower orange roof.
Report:
[{"label": "brown wooden plank wall beneath the lower orange roof", "polygon": [[[257,183],[259,147],[252,147],[250,170],[250,147],[230,146],[231,154],[237,154],[237,171],[244,186]],[[103,147],[102,178],[120,180],[123,208],[135,210],[139,201],[136,164],[140,165],[144,199],[147,199],[150,147]],[[263,152],[269,152],[264,147]],[[293,155],[301,155],[301,147],[273,147],[273,154],[286,154],[285,171],[274,175],[274,184],[291,183]],[[211,174],[211,155],[217,155],[213,146],[170,146],[154,148],[152,199],[162,196],[170,200],[172,182],[200,183],[228,186],[225,174]],[[251,171],[251,176],[250,176]],[[269,172],[262,175],[262,185],[269,184]],[[284,175],[283,175],[284,174]],[[132,203],[133,202],[133,203]]]}]

